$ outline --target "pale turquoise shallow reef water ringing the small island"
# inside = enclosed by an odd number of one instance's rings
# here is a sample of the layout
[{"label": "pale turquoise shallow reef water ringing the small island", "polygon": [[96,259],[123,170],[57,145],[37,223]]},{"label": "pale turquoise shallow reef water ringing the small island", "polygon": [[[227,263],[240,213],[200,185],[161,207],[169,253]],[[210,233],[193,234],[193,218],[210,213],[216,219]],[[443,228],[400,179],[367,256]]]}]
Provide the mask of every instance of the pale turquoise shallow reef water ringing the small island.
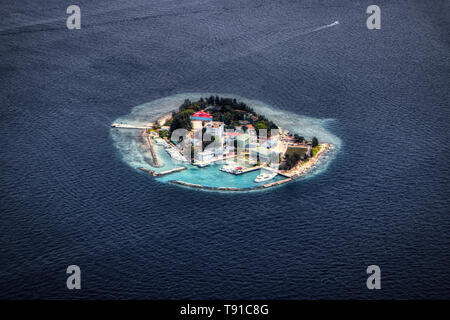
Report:
[{"label": "pale turquoise shallow reef water ringing the small island", "polygon": [[[218,94],[224,98],[236,98],[244,102],[258,114],[264,115],[291,133],[297,133],[307,139],[311,139],[313,136],[318,137],[320,142],[330,144],[332,147],[321,155],[317,163],[301,176],[289,178],[278,174],[271,181],[264,183],[254,181],[259,174],[259,170],[233,175],[220,170],[223,163],[212,163],[207,167],[198,168],[189,163],[175,161],[167,154],[164,147],[156,144],[153,145],[153,152],[150,152],[148,144],[142,137],[142,127],[148,127],[150,123],[177,110],[185,99],[195,101],[211,95],[217,94],[186,93],[165,97],[138,105],[129,114],[116,119],[115,123],[123,123],[138,128],[111,128],[114,146],[123,162],[137,171],[151,174],[157,181],[163,183],[208,191],[257,191],[320,174],[326,170],[341,149],[341,140],[327,129],[327,124],[333,119],[305,117],[258,100],[245,99],[231,94]],[[154,156],[158,158],[158,165],[155,165],[152,161]]]}]

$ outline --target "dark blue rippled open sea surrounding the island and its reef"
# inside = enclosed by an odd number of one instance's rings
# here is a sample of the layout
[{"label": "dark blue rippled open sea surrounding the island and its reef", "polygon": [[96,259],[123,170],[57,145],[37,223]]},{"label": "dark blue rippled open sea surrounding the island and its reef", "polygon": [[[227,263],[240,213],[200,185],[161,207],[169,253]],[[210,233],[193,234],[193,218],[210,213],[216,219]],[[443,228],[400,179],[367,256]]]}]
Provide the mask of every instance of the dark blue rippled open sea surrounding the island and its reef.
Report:
[{"label": "dark blue rippled open sea surrounding the island and its reef", "polygon": [[[73,31],[0,4],[0,298],[450,298],[448,1],[377,1],[376,31],[371,1],[77,3]],[[339,154],[267,192],[158,182],[110,124],[186,92],[333,119]]]}]

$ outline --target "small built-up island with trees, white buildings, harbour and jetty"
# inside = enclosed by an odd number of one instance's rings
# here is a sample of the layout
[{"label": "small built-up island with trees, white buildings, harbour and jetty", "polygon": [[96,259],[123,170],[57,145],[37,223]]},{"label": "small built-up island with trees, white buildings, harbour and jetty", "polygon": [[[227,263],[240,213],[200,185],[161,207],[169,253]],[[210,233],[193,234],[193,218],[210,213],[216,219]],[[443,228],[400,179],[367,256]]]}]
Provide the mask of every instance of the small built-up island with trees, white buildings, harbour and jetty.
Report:
[{"label": "small built-up island with trees, white buildings, harbour and jetty", "polygon": [[[277,186],[307,173],[332,147],[316,137],[307,140],[280,128],[244,102],[213,95],[197,101],[186,99],[178,110],[143,126],[112,126],[142,130],[150,166],[141,167],[142,171],[159,177],[195,169],[193,174],[199,176],[195,183],[192,179],[169,182],[203,189],[241,191]],[[227,185],[232,180],[223,179],[224,185],[202,184],[206,176],[202,169],[213,170],[212,179],[220,180],[220,172],[245,183],[242,187]]]}]

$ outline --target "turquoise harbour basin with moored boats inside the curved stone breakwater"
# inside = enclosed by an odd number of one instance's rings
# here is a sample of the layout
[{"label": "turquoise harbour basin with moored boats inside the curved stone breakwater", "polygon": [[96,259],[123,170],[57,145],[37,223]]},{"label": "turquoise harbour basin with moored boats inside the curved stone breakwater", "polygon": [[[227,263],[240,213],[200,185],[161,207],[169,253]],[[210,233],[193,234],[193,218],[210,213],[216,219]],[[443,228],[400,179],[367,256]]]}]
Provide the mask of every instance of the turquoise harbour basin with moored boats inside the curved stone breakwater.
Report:
[{"label": "turquoise harbour basin with moored boats inside the curved stone breakwater", "polygon": [[[311,170],[317,164],[319,157],[331,148],[329,144],[321,144],[315,156],[299,163],[289,171],[278,170],[278,167],[271,168],[267,164],[255,165],[245,157],[239,158],[237,155],[211,159],[204,166],[199,165],[199,162],[185,162],[183,166],[174,167],[176,163],[184,162],[180,158],[182,156],[180,149],[156,135],[144,135],[149,148],[153,150],[152,156],[156,162],[161,165],[160,159],[164,158],[165,165],[155,167],[154,170],[141,167],[142,171],[171,184],[229,192],[263,190],[294,181]],[[167,169],[159,171],[164,168]]]}]

